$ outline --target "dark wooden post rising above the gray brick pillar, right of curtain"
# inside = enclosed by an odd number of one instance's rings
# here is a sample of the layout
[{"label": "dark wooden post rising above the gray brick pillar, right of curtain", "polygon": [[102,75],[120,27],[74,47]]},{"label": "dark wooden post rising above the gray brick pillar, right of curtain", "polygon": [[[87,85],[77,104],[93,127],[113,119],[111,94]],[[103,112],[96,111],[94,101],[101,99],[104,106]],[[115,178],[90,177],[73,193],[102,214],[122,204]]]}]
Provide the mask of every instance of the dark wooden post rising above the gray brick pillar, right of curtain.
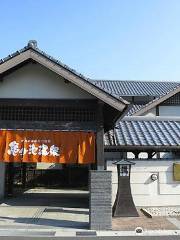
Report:
[{"label": "dark wooden post rising above the gray brick pillar, right of curtain", "polygon": [[104,170],[104,119],[103,102],[98,102],[97,107],[97,133],[96,133],[96,163],[97,170]]}]

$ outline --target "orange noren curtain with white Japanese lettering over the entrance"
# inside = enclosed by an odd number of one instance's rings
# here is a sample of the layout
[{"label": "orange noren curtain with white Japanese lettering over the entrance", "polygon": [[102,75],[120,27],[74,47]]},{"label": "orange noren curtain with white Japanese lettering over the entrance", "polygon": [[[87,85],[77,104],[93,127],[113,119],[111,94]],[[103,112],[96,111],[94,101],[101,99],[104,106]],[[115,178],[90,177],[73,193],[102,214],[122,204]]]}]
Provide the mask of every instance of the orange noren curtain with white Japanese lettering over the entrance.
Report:
[{"label": "orange noren curtain with white Japanese lettering over the entrance", "polygon": [[80,131],[0,130],[0,160],[90,164],[95,162],[95,136]]}]

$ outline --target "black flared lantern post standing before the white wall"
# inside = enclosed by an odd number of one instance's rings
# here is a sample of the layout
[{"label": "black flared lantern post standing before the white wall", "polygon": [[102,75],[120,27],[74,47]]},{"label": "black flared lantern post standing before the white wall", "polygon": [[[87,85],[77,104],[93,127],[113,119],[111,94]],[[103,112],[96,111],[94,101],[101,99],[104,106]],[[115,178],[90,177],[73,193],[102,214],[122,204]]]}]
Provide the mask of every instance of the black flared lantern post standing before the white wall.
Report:
[{"label": "black flared lantern post standing before the white wall", "polygon": [[115,162],[118,173],[118,190],[113,206],[113,217],[139,217],[131,194],[131,166],[135,163],[128,160]]}]

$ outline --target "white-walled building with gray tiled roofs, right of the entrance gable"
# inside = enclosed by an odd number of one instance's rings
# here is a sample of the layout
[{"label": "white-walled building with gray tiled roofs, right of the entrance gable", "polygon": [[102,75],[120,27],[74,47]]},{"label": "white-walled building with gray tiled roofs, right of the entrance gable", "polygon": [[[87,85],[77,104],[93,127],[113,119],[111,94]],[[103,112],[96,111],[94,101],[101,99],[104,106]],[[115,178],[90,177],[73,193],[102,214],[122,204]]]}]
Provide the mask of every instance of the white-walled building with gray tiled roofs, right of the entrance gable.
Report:
[{"label": "white-walled building with gray tiled roofs, right of the entrance gable", "polygon": [[[136,206],[175,206],[180,202],[174,163],[180,163],[180,84],[175,82],[98,81],[131,105],[115,129],[105,134],[107,168],[113,172],[113,202],[118,158],[133,159],[131,188]],[[151,176],[157,175],[153,181]]]}]

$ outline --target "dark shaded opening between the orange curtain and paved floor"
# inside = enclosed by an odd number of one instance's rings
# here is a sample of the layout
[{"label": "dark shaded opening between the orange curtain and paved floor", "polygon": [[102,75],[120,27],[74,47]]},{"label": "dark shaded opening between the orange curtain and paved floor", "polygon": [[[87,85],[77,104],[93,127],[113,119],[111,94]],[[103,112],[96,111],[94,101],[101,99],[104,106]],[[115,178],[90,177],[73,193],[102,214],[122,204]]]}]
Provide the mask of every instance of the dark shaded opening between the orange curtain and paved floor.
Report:
[{"label": "dark shaded opening between the orange curtain and paved floor", "polygon": [[88,190],[89,165],[7,163],[5,195],[32,188]]}]

